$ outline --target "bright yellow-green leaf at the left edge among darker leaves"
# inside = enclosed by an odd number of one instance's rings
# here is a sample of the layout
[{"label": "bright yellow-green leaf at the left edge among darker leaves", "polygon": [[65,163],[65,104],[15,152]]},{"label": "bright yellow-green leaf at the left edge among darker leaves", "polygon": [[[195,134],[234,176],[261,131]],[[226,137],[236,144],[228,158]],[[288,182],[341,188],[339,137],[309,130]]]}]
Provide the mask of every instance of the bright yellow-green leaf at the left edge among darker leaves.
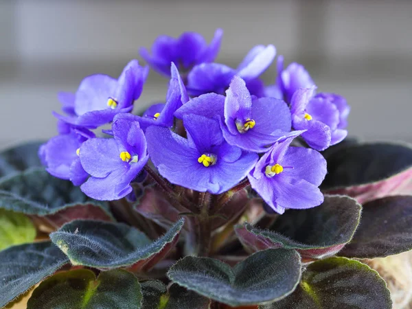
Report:
[{"label": "bright yellow-green leaf at the left edge among darker leaves", "polygon": [[0,250],[35,238],[36,228],[27,216],[0,209]]}]

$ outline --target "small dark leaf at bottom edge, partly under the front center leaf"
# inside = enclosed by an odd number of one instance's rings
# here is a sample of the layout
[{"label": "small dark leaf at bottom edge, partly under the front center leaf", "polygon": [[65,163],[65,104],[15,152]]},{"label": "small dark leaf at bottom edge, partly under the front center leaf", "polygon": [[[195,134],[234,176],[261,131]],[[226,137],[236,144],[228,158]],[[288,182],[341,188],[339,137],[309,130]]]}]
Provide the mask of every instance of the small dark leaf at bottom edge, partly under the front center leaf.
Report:
[{"label": "small dark leaf at bottom edge, partly under the front center leaf", "polygon": [[141,282],[142,309],[209,309],[210,299],[178,284],[169,288],[157,280]]}]

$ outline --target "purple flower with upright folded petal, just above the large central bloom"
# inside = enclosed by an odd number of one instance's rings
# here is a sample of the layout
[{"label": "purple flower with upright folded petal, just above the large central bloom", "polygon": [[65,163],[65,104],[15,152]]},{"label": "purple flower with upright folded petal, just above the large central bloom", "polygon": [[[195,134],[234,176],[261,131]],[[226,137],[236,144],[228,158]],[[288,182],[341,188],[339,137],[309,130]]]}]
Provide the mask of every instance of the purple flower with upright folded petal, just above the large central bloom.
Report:
[{"label": "purple flower with upright folded petal, just above the large central bloom", "polygon": [[290,132],[288,106],[275,98],[252,99],[242,78],[235,76],[226,98],[207,93],[192,99],[176,111],[176,117],[187,114],[218,117],[226,141],[244,150],[266,152],[271,144],[299,133]]}]

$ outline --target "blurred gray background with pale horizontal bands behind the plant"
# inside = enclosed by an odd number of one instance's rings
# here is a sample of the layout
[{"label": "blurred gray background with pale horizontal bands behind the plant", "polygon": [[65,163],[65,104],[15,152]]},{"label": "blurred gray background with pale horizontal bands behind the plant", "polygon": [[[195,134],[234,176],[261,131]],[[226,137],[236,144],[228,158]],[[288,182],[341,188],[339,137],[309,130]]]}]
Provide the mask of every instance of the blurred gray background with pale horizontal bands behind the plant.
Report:
[{"label": "blurred gray background with pale horizontal bands behind the plant", "polygon": [[[412,1],[0,0],[0,148],[56,134],[58,91],[91,73],[118,76],[159,34],[225,31],[218,62],[236,66],[273,43],[319,91],[352,106],[350,135],[412,141]],[[275,65],[264,74],[275,80]],[[141,110],[164,100],[151,72]]]}]

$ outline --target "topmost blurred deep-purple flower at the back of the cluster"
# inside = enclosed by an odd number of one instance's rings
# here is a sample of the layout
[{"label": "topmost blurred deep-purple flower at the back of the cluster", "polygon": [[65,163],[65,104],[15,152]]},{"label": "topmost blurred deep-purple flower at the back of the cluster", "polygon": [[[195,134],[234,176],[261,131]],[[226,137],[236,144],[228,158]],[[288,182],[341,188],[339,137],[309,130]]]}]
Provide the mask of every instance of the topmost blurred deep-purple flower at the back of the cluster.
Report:
[{"label": "topmost blurred deep-purple flower at the back of the cluster", "polygon": [[152,56],[144,47],[140,49],[140,56],[152,69],[164,76],[170,76],[170,62],[179,64],[179,69],[185,72],[194,65],[213,61],[218,55],[222,35],[221,29],[216,30],[209,45],[205,38],[196,32],[184,32],[179,38],[159,36],[152,45]]}]

